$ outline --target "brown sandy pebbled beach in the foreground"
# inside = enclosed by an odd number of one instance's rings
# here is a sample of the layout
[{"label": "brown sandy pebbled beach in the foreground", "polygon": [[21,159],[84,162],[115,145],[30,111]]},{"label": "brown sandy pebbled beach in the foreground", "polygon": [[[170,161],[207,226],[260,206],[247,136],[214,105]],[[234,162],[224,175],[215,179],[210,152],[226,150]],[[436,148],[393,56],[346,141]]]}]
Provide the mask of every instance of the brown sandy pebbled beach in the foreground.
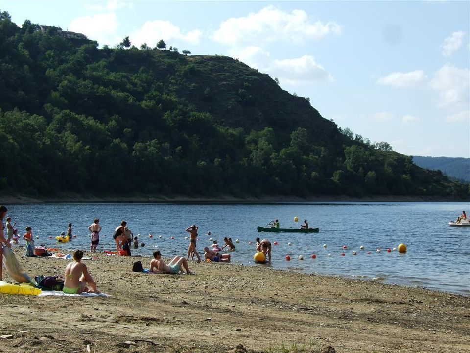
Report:
[{"label": "brown sandy pebbled beach in the foreground", "polygon": [[[23,252],[31,277],[69,261]],[[148,257],[85,256],[110,297],[0,294],[0,352],[470,352],[467,296],[262,265],[148,275],[131,271]]]}]

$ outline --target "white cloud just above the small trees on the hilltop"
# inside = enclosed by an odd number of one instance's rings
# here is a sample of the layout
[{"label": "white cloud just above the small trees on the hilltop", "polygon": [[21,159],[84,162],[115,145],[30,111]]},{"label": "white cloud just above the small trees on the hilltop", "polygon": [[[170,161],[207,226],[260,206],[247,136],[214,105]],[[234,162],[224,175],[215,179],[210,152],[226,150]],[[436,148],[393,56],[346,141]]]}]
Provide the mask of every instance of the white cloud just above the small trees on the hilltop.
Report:
[{"label": "white cloud just above the small trees on the hilltop", "polygon": [[163,39],[167,45],[174,45],[168,43],[171,41],[198,44],[201,35],[202,32],[198,29],[183,33],[179,27],[171,24],[169,21],[155,20],[145,22],[141,29],[134,31],[129,36],[129,39],[136,47],[141,46],[143,43],[147,43],[149,47],[154,47],[160,39]]}]

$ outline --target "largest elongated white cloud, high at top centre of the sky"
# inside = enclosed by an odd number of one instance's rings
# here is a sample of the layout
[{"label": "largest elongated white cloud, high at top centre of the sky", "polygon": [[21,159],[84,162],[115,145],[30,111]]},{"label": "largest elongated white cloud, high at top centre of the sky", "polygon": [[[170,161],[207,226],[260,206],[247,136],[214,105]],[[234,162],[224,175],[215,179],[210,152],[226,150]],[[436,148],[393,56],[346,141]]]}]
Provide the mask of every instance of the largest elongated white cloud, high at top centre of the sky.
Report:
[{"label": "largest elongated white cloud, high at top centre of the sky", "polygon": [[258,13],[222,22],[213,33],[212,39],[228,46],[238,47],[276,41],[302,43],[307,38],[320,38],[330,33],[340,34],[340,25],[334,21],[312,22],[303,10],[292,10],[287,13],[274,6],[267,6]]}]

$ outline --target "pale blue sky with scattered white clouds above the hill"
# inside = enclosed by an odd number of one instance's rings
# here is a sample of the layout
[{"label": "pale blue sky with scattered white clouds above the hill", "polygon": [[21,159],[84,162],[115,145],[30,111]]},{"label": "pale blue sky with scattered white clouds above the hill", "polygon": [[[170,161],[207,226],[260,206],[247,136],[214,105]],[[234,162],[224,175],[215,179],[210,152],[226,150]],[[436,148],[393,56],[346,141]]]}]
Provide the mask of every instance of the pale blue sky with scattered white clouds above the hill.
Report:
[{"label": "pale blue sky with scattered white clouds above the hill", "polygon": [[470,157],[468,0],[0,0],[0,10],[100,47],[129,36],[237,58],[372,143]]}]

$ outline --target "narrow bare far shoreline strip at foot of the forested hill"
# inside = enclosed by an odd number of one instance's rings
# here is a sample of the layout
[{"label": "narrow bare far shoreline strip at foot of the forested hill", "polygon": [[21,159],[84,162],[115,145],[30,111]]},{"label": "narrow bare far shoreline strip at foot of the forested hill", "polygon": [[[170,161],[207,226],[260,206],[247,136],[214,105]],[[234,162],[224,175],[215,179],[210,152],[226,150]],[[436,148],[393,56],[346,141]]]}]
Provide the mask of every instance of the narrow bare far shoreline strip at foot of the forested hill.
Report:
[{"label": "narrow bare far shoreline strip at foot of the forested hill", "polygon": [[181,204],[269,204],[297,202],[467,202],[453,198],[429,196],[390,196],[377,195],[366,197],[350,197],[345,195],[319,195],[308,198],[296,196],[263,196],[259,198],[238,198],[231,195],[218,197],[190,197],[187,195],[103,195],[64,193],[54,197],[32,197],[27,195],[1,195],[0,204],[42,204],[42,203],[181,203]]}]

